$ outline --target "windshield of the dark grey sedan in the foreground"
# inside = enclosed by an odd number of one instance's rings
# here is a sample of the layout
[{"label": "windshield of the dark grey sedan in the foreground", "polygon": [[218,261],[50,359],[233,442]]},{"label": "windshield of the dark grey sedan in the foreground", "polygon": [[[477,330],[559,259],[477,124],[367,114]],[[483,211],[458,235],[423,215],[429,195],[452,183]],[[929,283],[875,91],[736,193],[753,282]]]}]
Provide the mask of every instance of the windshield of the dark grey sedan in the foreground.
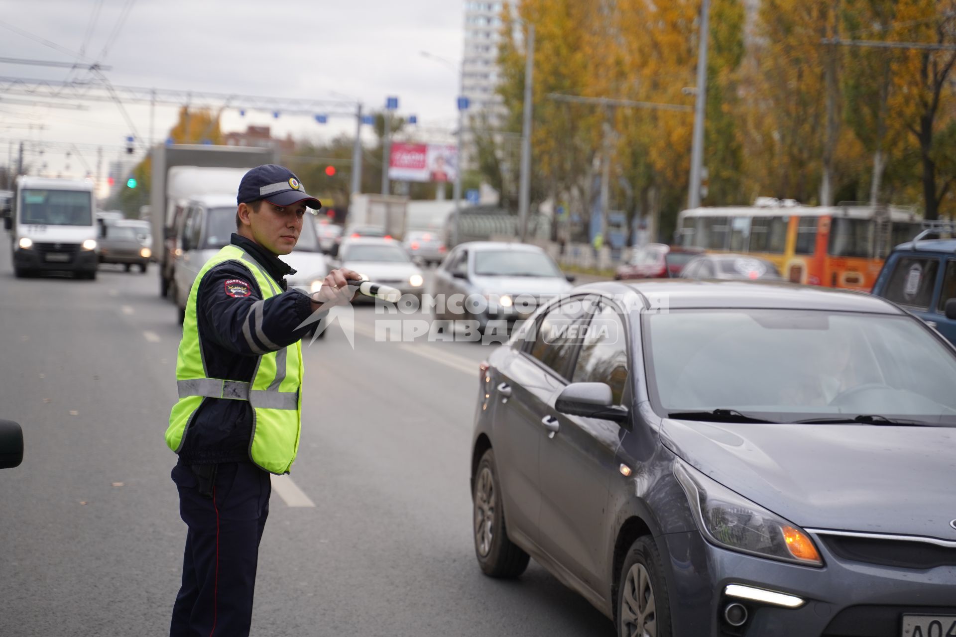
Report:
[{"label": "windshield of the dark grey sedan in the foreground", "polygon": [[956,355],[909,316],[682,309],[645,314],[643,328],[660,414],[879,414],[956,426]]}]

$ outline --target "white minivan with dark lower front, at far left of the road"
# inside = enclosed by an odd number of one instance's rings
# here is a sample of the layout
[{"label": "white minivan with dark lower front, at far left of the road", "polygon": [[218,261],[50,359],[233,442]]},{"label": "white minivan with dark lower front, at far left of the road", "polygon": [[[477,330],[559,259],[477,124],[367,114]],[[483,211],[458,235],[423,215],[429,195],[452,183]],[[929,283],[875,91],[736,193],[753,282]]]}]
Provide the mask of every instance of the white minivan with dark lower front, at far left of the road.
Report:
[{"label": "white minivan with dark lower front, at far left of the road", "polygon": [[97,222],[92,180],[17,177],[11,214],[13,272],[44,271],[97,278]]}]

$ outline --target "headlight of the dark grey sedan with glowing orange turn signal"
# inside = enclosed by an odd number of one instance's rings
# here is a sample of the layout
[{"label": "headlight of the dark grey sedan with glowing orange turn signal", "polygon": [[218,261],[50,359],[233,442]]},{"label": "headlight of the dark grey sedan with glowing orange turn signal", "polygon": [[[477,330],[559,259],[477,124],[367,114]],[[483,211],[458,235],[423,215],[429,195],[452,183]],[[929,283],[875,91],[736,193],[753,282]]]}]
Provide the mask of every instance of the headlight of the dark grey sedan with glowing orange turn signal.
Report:
[{"label": "headlight of the dark grey sedan with glowing orange turn signal", "polygon": [[674,462],[677,478],[706,541],[762,558],[822,566],[810,535],[684,462]]}]

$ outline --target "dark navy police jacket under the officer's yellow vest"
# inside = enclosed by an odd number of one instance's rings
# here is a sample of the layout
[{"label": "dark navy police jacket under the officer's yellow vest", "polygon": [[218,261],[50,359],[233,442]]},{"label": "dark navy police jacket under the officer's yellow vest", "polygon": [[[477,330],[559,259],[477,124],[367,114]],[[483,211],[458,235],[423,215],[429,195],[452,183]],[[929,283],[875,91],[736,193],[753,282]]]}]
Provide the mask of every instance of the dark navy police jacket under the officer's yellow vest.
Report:
[{"label": "dark navy police jacket under the officer's yellow vest", "polygon": [[[245,250],[285,290],[263,304],[266,338],[281,347],[301,339],[314,324],[296,329],[312,314],[312,302],[302,292],[288,289],[284,277],[295,270],[245,237],[233,233],[231,244]],[[259,341],[253,326],[245,331],[243,326],[253,321],[250,308],[261,300],[262,291],[246,266],[227,261],[206,272],[196,296],[196,313],[207,377],[252,381],[259,356],[255,350],[269,348]],[[189,424],[179,454],[191,464],[248,462],[251,436],[249,401],[205,398]]]}]

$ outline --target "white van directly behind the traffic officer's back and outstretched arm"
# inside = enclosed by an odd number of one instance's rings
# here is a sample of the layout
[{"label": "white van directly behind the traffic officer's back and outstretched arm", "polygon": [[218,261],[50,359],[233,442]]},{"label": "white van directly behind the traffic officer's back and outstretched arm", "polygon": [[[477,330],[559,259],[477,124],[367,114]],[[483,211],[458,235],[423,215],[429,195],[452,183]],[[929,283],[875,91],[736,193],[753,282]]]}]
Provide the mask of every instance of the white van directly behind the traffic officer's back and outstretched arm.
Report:
[{"label": "white van directly behind the traffic officer's back and outstretched arm", "polygon": [[[234,195],[204,195],[189,201],[180,238],[182,248],[173,268],[173,299],[180,309],[180,323],[185,318],[185,304],[196,275],[216,252],[228,245],[235,232],[236,200]],[[309,219],[305,220],[309,222]],[[329,263],[318,245],[315,223],[302,223],[295,249],[280,259],[291,265],[294,274],[286,277],[290,287],[304,292],[317,291],[329,273]]]}]

